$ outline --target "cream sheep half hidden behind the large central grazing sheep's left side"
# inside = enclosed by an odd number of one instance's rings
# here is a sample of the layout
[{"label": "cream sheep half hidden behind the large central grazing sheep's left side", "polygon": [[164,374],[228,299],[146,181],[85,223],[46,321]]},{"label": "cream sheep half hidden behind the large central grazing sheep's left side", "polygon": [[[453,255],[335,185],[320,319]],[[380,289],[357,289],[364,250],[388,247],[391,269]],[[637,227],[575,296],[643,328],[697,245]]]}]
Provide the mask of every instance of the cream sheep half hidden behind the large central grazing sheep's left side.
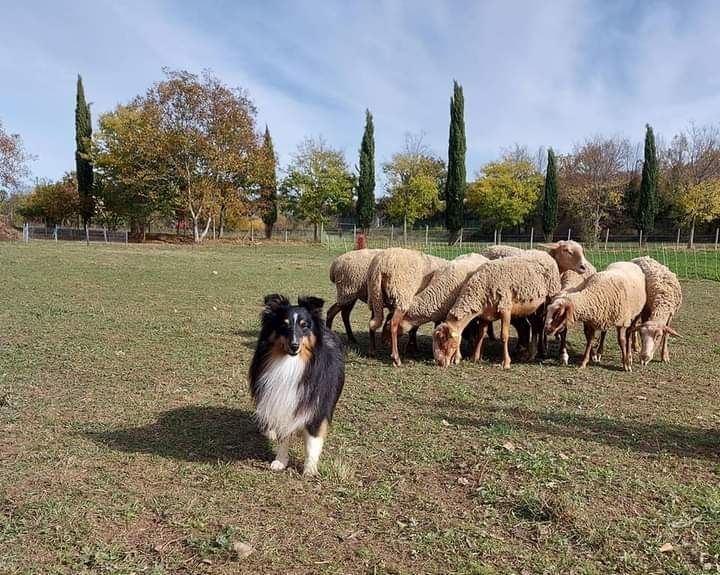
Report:
[{"label": "cream sheep half hidden behind the large central grazing sheep's left side", "polygon": [[[438,325],[443,321],[463,284],[488,261],[480,254],[465,254],[435,272],[427,287],[413,298],[398,326],[398,337],[408,330],[417,331],[420,326],[428,322]],[[390,341],[390,323],[391,321],[387,321],[383,328],[383,339],[386,342]]]}]

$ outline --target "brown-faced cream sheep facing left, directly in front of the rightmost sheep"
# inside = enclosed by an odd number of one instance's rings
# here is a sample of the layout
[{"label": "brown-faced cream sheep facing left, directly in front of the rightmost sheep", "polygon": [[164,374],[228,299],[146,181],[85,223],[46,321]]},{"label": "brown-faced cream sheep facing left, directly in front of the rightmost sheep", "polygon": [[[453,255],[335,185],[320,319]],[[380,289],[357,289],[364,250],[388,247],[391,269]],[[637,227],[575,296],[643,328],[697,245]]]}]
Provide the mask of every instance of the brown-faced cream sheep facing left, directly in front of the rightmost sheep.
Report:
[{"label": "brown-faced cream sheep facing left, directly in front of the rightmost sheep", "polygon": [[632,371],[632,349],[627,338],[645,307],[645,275],[632,262],[615,262],[604,271],[588,278],[579,291],[556,297],[545,318],[545,331],[555,334],[575,321],[582,321],[585,330],[585,352],[580,367],[590,360],[596,330],[617,328],[623,369]]}]

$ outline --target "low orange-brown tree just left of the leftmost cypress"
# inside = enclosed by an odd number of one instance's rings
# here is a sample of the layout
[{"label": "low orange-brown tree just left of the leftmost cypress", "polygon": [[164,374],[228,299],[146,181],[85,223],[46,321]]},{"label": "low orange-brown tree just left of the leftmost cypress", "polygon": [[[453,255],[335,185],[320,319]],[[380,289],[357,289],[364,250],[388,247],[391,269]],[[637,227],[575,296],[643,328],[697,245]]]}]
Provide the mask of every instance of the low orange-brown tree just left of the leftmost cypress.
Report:
[{"label": "low orange-brown tree just left of the leftmost cypress", "polygon": [[43,182],[23,198],[17,213],[26,219],[42,219],[45,225],[62,225],[80,213],[80,196],[74,173],[57,182]]}]

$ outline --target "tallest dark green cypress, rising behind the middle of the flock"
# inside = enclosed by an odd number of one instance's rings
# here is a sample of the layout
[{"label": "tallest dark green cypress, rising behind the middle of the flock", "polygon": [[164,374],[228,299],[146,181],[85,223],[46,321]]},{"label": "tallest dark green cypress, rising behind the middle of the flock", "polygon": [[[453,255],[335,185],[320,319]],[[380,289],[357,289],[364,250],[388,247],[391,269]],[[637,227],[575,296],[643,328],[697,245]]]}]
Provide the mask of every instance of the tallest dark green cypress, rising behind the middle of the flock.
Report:
[{"label": "tallest dark green cypress, rising behind the middle of the flock", "polygon": [[445,226],[448,243],[457,241],[463,227],[463,204],[465,201],[465,99],[462,86],[453,82],[450,99],[450,138],[448,141],[448,174],[445,183]]}]

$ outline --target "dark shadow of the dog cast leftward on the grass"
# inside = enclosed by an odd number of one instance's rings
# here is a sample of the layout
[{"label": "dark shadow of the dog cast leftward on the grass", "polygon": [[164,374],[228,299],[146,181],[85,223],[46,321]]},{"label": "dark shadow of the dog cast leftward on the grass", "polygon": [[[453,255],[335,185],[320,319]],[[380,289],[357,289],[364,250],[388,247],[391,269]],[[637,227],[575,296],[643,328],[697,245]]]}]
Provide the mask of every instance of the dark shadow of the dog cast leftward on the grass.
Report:
[{"label": "dark shadow of the dog cast leftward on the grass", "polygon": [[227,407],[180,407],[140,427],[87,432],[96,443],[129,453],[152,453],[182,461],[268,460],[268,440],[252,412]]}]

